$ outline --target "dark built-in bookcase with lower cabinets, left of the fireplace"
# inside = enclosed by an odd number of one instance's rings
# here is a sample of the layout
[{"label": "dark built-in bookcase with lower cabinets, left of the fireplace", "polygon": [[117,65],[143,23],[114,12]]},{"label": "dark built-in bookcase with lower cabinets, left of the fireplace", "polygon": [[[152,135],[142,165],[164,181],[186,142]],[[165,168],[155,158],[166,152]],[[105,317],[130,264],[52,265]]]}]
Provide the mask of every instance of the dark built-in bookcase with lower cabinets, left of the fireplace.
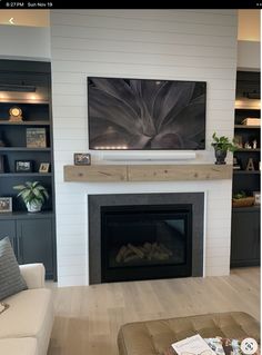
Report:
[{"label": "dark built-in bookcase with lower cabinets, left of the fireplace", "polygon": [[[42,263],[47,277],[56,280],[51,65],[1,59],[0,82],[3,90],[10,89],[2,91],[0,98],[0,196],[10,197],[12,201],[11,213],[0,211],[0,239],[8,235],[20,264]],[[36,93],[17,90],[23,85],[34,87]],[[14,107],[21,110],[18,121],[16,117],[10,120],[10,110]],[[24,164],[31,171],[22,169],[22,161],[31,162]],[[52,167],[50,171],[40,172],[47,164]],[[48,190],[49,198],[39,213],[28,213],[19,191],[13,189],[27,181],[39,181]]]}]

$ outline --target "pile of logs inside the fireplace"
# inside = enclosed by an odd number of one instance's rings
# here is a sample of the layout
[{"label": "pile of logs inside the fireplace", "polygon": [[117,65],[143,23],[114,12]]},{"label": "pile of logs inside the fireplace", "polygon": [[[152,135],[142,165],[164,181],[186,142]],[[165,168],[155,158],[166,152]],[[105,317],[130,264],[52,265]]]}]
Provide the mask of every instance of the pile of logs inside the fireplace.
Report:
[{"label": "pile of logs inside the fireplace", "polygon": [[144,243],[141,246],[123,245],[115,257],[117,263],[129,263],[138,259],[167,260],[173,255],[172,250],[162,243]]}]

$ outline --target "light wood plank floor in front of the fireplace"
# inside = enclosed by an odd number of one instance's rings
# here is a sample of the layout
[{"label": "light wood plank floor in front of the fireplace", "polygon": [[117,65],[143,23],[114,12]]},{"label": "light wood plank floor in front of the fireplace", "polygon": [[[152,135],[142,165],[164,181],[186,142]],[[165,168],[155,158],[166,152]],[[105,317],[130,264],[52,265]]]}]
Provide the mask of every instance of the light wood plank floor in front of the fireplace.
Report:
[{"label": "light wood plank floor in front of the fireplace", "polygon": [[230,276],[53,287],[56,321],[48,355],[117,355],[128,322],[242,310],[260,319],[260,268]]}]

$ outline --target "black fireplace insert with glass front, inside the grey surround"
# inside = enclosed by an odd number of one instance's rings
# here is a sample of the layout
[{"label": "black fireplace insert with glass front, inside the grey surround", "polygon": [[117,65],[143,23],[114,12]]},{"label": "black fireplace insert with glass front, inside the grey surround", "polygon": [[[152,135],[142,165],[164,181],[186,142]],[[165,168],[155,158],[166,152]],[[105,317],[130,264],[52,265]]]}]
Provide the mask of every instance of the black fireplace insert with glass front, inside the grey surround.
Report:
[{"label": "black fireplace insert with glass front, inside the grey surround", "polygon": [[192,205],[100,211],[102,283],[192,276]]}]

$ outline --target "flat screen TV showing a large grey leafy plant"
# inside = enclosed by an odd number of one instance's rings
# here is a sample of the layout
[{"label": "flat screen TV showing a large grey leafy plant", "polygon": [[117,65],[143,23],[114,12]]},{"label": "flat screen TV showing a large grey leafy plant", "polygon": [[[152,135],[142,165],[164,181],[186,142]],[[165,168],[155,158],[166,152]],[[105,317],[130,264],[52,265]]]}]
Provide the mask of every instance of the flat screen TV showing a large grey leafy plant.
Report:
[{"label": "flat screen TV showing a large grey leafy plant", "polygon": [[90,149],[205,148],[206,82],[88,77]]}]

